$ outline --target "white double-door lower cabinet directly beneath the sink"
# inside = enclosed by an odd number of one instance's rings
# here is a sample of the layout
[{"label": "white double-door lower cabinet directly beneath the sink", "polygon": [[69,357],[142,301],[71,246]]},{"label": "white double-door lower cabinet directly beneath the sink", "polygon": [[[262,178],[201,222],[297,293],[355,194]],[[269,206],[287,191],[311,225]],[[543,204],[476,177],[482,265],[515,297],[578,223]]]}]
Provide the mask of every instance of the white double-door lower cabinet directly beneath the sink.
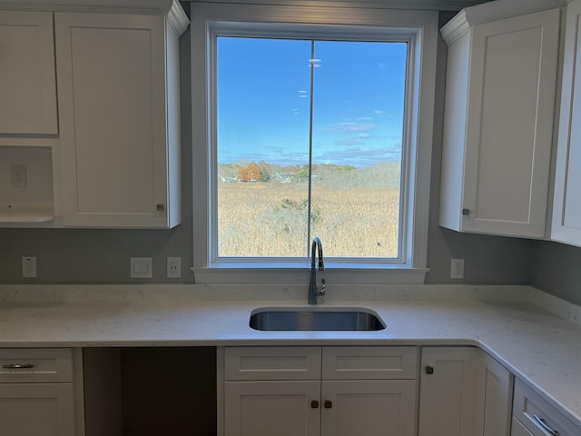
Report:
[{"label": "white double-door lower cabinet directly beneath the sink", "polygon": [[417,353],[416,347],[227,348],[223,433],[413,436]]}]

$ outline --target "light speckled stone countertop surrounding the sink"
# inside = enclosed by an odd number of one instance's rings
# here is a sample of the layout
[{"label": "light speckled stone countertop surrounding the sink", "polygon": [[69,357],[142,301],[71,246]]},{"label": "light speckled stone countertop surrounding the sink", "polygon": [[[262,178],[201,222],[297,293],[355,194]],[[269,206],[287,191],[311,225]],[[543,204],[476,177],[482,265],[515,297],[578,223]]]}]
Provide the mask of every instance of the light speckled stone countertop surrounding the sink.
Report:
[{"label": "light speckled stone countertop surrounding the sink", "polygon": [[[260,290],[255,292],[258,298],[238,301],[223,289],[192,291],[190,286],[169,294],[128,289],[96,292],[98,298],[87,299],[81,295],[86,290],[0,287],[0,347],[475,345],[581,428],[581,326],[541,309],[539,302],[545,308],[558,304],[539,297],[533,288],[483,292],[482,287],[465,287],[428,301],[422,298],[425,287],[391,287],[388,299],[379,296],[386,292],[373,288],[357,300],[338,291],[320,304],[375,311],[387,325],[379,332],[252,330],[249,317],[258,307],[307,306],[289,287],[268,299]],[[578,314],[573,307],[569,319]]]}]

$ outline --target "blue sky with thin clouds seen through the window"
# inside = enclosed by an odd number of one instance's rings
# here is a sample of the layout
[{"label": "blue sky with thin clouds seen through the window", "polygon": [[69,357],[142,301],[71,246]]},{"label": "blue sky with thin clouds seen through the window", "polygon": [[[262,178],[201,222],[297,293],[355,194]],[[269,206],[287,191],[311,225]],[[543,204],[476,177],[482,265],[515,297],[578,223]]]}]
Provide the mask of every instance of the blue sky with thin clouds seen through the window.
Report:
[{"label": "blue sky with thin clouds seen through the window", "polygon": [[368,166],[399,160],[407,46],[403,43],[220,37],[218,162],[309,161]]}]

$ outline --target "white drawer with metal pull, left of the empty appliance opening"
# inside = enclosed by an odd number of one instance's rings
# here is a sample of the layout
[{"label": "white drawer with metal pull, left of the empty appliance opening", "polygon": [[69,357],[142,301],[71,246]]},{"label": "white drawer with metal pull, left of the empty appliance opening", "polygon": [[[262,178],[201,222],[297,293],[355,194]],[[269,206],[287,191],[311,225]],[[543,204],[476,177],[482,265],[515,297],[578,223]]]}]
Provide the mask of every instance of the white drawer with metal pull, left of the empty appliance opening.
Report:
[{"label": "white drawer with metal pull, left of the empty appliance opening", "polygon": [[0,383],[73,381],[69,349],[0,349]]}]

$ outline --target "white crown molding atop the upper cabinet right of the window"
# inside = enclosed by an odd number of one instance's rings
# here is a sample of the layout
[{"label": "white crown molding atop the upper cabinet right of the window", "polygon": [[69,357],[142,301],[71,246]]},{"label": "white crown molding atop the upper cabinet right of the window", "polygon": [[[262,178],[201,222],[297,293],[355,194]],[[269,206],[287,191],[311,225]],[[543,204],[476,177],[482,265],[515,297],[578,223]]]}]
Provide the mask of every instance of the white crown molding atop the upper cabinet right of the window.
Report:
[{"label": "white crown molding atop the upper cabinet right of the window", "polygon": [[467,7],[440,29],[447,45],[466,34],[473,25],[481,25],[515,15],[529,14],[566,6],[567,0],[496,0]]}]

